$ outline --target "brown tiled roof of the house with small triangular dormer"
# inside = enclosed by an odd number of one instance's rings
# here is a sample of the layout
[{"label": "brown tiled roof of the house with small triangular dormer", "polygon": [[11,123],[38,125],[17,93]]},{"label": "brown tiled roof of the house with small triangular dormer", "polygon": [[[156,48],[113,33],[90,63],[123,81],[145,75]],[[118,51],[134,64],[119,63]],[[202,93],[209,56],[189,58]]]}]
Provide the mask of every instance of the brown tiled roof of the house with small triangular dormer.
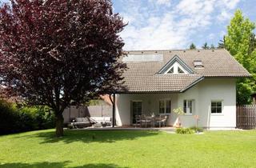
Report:
[{"label": "brown tiled roof of the house with small triangular dormer", "polygon": [[[126,62],[128,70],[123,73],[126,93],[183,92],[204,78],[250,77],[227,50],[140,50],[126,54],[162,55],[162,59],[155,61]],[[203,68],[195,68],[195,60],[201,60]],[[173,62],[186,67],[190,74],[162,74]]]}]

